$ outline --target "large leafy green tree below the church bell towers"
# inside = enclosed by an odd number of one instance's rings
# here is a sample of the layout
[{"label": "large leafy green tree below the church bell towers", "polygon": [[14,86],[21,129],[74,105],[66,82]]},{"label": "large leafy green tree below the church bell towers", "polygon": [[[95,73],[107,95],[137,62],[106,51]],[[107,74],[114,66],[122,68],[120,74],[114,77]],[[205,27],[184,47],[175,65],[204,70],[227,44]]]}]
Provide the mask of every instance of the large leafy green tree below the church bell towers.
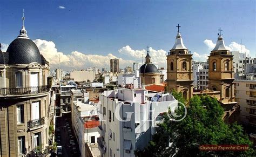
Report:
[{"label": "large leafy green tree below the church bell towers", "polygon": [[[181,93],[173,92],[180,102],[185,102]],[[184,108],[177,108],[177,114],[184,114]],[[164,121],[158,124],[157,133],[143,150],[135,151],[137,156],[255,156],[252,142],[237,123],[227,125],[223,121],[224,110],[217,99],[210,96],[194,96],[187,107],[186,118],[171,121],[166,113]],[[170,115],[172,117],[172,115]],[[175,117],[172,117],[175,118]],[[171,143],[167,147],[167,144]],[[249,145],[244,152],[200,151],[200,145]]]}]

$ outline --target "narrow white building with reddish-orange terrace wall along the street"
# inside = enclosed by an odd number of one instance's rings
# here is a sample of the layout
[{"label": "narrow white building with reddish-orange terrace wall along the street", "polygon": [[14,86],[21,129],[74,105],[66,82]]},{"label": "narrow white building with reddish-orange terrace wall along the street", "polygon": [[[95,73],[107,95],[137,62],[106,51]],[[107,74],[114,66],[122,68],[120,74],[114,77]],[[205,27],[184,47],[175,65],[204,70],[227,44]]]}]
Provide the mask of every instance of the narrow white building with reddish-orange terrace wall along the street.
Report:
[{"label": "narrow white building with reddish-orange terrace wall along the street", "polygon": [[72,96],[72,126],[81,156],[100,156],[97,144],[100,136],[97,129],[100,124],[97,106],[87,101],[89,93],[83,90],[72,90]]}]

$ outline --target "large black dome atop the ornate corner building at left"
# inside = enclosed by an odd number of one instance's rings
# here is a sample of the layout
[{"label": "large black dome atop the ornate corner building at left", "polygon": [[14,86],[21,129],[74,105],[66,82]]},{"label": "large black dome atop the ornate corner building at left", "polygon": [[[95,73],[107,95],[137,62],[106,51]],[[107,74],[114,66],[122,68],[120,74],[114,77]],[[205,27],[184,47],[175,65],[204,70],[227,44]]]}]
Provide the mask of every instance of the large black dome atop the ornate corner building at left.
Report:
[{"label": "large black dome atop the ornate corner building at left", "polygon": [[42,65],[41,54],[31,39],[16,38],[8,46],[6,52],[9,52],[9,65],[30,64],[32,62]]}]

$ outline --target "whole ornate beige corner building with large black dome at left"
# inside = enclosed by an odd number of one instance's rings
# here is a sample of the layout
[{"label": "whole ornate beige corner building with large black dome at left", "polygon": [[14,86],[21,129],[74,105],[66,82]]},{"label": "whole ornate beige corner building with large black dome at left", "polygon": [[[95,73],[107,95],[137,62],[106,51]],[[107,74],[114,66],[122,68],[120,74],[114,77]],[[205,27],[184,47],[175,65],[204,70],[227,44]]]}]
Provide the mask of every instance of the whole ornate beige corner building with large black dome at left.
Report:
[{"label": "whole ornate beige corner building with large black dome at left", "polygon": [[42,151],[49,145],[53,105],[49,63],[27,36],[24,25],[0,54],[0,156]]}]

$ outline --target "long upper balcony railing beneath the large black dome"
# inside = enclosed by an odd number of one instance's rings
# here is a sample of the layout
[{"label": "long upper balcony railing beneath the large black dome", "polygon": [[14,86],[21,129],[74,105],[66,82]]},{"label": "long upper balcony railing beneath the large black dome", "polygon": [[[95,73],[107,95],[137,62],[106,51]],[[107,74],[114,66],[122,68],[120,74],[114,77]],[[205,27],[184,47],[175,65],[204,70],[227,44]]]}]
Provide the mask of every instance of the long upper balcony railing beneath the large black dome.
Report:
[{"label": "long upper balcony railing beneath the large black dome", "polygon": [[50,90],[50,86],[34,86],[34,87],[10,87],[0,88],[0,95],[25,95],[45,93]]}]

